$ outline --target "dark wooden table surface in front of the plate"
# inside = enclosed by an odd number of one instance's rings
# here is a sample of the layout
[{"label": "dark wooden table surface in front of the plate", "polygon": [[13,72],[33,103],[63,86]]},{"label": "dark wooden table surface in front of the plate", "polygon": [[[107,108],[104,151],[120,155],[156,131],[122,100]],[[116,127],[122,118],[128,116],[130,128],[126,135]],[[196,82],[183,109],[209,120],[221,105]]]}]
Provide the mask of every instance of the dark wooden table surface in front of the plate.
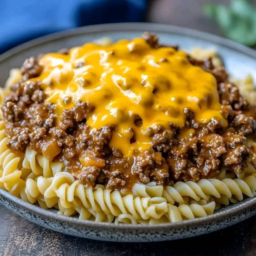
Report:
[{"label": "dark wooden table surface in front of the plate", "polygon": [[211,234],[177,241],[115,243],[76,238],[42,228],[0,206],[1,256],[256,255],[256,217]]}]

